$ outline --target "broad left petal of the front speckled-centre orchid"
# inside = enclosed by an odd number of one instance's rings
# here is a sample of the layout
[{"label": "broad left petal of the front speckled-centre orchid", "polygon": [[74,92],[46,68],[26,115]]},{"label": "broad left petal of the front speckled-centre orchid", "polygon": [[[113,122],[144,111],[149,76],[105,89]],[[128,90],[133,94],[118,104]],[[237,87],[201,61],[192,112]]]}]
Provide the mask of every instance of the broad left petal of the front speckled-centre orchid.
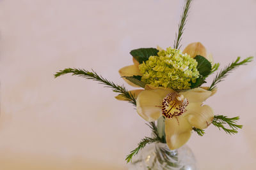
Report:
[{"label": "broad left petal of the front speckled-centre orchid", "polygon": [[148,122],[157,120],[162,114],[163,99],[169,93],[169,90],[163,89],[144,90],[140,92],[136,99],[137,112]]}]

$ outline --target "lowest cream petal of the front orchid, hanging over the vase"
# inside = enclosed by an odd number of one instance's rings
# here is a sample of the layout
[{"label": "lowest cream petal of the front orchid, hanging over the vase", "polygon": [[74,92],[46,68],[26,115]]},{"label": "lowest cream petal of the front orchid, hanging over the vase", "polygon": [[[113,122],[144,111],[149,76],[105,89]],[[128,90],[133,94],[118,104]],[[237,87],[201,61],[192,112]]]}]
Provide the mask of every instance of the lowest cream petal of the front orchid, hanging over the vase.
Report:
[{"label": "lowest cream petal of the front orchid, hanging over the vase", "polygon": [[170,150],[175,150],[184,145],[191,136],[192,126],[187,118],[179,117],[165,119],[166,143]]}]

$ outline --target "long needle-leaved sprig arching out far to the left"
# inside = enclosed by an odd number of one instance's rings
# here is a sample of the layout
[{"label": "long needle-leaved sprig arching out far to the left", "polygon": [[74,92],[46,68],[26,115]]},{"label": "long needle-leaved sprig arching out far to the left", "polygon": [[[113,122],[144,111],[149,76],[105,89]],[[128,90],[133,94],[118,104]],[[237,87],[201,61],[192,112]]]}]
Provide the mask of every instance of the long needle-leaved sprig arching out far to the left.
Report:
[{"label": "long needle-leaved sprig arching out far to the left", "polygon": [[86,79],[92,79],[94,81],[99,81],[101,84],[106,85],[106,87],[111,88],[113,90],[113,92],[117,92],[117,93],[121,94],[122,96],[126,97],[129,100],[129,103],[132,103],[134,106],[136,106],[136,99],[131,94],[131,92],[128,92],[128,90],[125,89],[124,85],[122,85],[122,86],[116,85],[112,81],[106,80],[106,78],[103,78],[102,76],[100,76],[93,70],[92,70],[92,72],[90,72],[90,71],[86,71],[84,69],[67,68],[67,69],[60,70],[59,72],[54,74],[54,77],[57,78],[58,76],[61,76],[61,75],[67,74],[67,73],[72,73],[72,75],[81,76]]}]

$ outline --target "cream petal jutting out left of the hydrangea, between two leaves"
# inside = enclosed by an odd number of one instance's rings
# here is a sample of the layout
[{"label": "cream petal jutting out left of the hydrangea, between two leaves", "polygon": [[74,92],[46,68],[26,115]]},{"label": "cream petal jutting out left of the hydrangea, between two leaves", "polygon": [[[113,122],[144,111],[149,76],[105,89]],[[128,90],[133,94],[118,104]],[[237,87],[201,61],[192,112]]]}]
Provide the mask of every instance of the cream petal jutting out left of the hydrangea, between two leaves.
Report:
[{"label": "cream petal jutting out left of the hydrangea, between two leaves", "polygon": [[[141,76],[139,67],[135,65],[122,67],[122,69],[119,70],[119,74],[121,76]],[[138,85],[135,85],[131,81],[127,80],[126,78],[124,78],[124,80],[133,87],[140,87]]]}]

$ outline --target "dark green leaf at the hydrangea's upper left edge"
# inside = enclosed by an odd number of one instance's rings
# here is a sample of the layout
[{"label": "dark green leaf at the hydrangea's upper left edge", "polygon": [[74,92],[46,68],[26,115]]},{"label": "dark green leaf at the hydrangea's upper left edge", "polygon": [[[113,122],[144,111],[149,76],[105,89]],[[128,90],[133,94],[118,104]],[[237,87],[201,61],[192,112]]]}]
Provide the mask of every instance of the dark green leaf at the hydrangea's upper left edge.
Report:
[{"label": "dark green leaf at the hydrangea's upper left edge", "polygon": [[138,62],[143,63],[143,61],[148,60],[150,56],[156,56],[159,51],[156,48],[138,48],[132,50],[130,53],[134,59]]}]

